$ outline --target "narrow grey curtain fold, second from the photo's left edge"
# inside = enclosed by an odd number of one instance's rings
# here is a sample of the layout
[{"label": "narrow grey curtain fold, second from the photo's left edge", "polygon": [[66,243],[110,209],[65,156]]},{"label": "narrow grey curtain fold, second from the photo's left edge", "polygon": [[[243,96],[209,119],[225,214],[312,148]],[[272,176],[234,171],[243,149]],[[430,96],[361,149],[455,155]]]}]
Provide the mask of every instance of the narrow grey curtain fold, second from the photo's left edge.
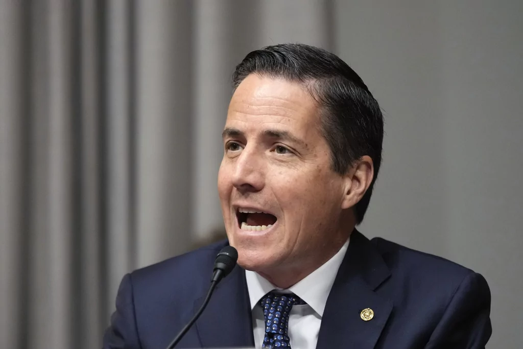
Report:
[{"label": "narrow grey curtain fold, second from the photo's left edge", "polygon": [[[50,139],[50,100],[49,86],[49,32],[47,16],[50,5],[47,2],[32,3],[29,6],[29,42],[30,60],[24,67],[30,74],[30,88],[27,91],[27,102],[30,104],[28,113],[29,137],[29,193],[30,205],[24,211],[29,221],[28,244],[29,269],[28,279],[28,325],[25,345],[30,348],[41,345],[49,347],[49,321],[51,294],[48,287],[50,268],[48,267],[49,221],[50,210],[48,198],[49,188],[49,139]],[[13,233],[13,232],[9,232]]]}]

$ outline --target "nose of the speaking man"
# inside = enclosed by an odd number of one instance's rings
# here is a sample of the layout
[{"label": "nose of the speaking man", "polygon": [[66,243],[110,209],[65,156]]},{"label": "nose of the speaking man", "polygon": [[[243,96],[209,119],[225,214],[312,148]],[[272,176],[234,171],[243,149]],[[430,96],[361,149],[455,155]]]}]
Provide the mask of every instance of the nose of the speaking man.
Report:
[{"label": "nose of the speaking man", "polygon": [[259,192],[265,185],[263,155],[255,149],[245,148],[237,157],[232,184],[241,193]]}]

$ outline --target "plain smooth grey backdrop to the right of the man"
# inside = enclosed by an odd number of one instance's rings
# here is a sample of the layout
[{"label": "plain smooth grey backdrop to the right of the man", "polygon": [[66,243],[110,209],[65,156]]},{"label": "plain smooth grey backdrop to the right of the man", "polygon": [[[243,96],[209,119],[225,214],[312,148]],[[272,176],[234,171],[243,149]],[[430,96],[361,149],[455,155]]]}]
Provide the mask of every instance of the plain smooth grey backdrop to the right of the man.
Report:
[{"label": "plain smooth grey backdrop to the right of the man", "polygon": [[336,4],[336,52],[386,122],[361,230],[483,274],[488,347],[521,347],[523,2]]}]

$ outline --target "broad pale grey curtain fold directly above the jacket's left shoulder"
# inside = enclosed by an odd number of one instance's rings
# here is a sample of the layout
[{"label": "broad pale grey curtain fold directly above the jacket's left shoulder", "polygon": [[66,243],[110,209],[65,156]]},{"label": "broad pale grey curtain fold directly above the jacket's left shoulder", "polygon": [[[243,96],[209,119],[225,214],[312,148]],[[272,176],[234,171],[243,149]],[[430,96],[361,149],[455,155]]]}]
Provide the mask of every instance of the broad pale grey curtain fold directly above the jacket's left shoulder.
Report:
[{"label": "broad pale grey curtain fold directly above the jacket's left shoulder", "polygon": [[190,241],[192,5],[136,6],[137,263],[147,265]]}]

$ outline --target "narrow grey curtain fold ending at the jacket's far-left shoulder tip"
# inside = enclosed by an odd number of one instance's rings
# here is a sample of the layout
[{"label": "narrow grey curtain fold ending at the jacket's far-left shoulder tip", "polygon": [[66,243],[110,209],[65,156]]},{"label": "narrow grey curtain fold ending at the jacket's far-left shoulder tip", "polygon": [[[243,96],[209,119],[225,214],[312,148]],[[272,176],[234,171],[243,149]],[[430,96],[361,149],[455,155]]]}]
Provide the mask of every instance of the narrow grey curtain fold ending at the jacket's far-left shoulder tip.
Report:
[{"label": "narrow grey curtain fold ending at the jacket's far-left shoulder tip", "polygon": [[[134,193],[135,148],[134,141],[134,74],[133,2],[111,1],[106,4],[104,24],[106,56],[103,59],[102,91],[105,92],[104,164],[102,173],[106,178],[106,304],[115,301],[120,279],[125,273],[137,267],[135,259],[135,217]],[[109,311],[106,310],[106,318]]]}]

